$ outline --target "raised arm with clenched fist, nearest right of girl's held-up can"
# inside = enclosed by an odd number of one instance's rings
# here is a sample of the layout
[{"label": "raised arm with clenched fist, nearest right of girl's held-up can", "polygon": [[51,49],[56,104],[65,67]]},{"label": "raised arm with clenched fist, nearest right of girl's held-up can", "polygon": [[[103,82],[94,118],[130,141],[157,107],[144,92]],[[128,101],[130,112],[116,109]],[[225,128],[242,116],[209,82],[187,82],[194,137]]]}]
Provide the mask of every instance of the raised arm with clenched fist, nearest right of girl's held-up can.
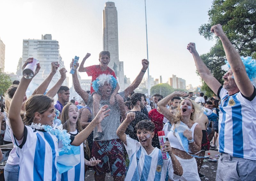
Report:
[{"label": "raised arm with clenched fist, nearest right of girl's held-up can", "polygon": [[44,94],[46,91],[47,87],[49,86],[52,77],[56,74],[57,69],[60,67],[60,64],[58,62],[52,62],[52,71],[51,73],[44,79],[44,81],[36,88],[36,90],[33,92],[32,95],[34,94]]}]

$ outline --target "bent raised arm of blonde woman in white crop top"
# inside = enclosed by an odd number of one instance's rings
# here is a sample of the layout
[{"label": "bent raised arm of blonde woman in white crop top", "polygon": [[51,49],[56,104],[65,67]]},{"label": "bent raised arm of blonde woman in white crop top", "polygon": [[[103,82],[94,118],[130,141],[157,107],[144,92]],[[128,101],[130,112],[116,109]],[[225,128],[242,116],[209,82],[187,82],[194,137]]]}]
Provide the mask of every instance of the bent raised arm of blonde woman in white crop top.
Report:
[{"label": "bent raised arm of blonde woman in white crop top", "polygon": [[163,114],[164,117],[172,123],[172,125],[173,125],[174,114],[169,109],[166,108],[166,105],[174,96],[183,97],[185,95],[187,95],[185,92],[174,91],[172,94],[166,96],[165,98],[161,99],[157,103],[157,111]]}]

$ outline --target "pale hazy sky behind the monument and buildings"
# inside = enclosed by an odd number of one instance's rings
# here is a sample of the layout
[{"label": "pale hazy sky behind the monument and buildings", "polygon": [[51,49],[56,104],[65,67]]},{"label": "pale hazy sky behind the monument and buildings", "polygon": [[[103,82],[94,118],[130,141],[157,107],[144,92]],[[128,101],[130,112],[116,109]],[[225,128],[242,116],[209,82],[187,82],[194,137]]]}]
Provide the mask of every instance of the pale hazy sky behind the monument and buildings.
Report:
[{"label": "pale hazy sky behind the monument and buildings", "polygon": [[[69,72],[74,56],[91,53],[85,66],[98,64],[102,43],[102,11],[106,0],[8,0],[0,1],[0,38],[5,44],[5,72],[16,72],[22,56],[23,39],[41,39],[52,34]],[[138,75],[141,60],[147,58],[144,0],[113,0],[118,13],[119,61],[131,81]],[[196,66],[187,50],[195,42],[199,54],[215,44],[199,35],[207,23],[210,0],[146,0],[149,74],[161,75],[163,83],[172,74],[194,87],[201,84]],[[40,61],[40,60],[39,60]],[[71,76],[68,73],[69,86]],[[80,73],[88,79],[86,73]],[[147,73],[145,73],[147,76]]]}]

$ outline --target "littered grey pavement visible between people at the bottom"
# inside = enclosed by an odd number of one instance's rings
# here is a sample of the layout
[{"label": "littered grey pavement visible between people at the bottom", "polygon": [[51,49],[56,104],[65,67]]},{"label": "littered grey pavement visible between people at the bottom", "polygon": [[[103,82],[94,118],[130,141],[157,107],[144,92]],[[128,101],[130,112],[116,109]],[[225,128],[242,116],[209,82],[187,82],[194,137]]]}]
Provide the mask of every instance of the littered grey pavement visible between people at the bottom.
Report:
[{"label": "littered grey pavement visible between people at the bottom", "polygon": [[[210,155],[209,155],[209,154]],[[220,154],[218,151],[214,151],[214,150],[209,150],[205,152],[205,156],[210,156],[212,158],[216,158],[215,156],[217,156],[218,154]],[[218,158],[216,158],[218,160]],[[204,159],[204,164],[200,170],[201,174],[204,174],[205,177],[201,178],[202,181],[215,181],[216,178],[216,172],[217,172],[217,162],[209,162],[209,159]],[[93,181],[94,180],[94,170],[87,170],[85,173],[85,180],[87,181]],[[113,181],[113,177],[107,173],[106,177],[105,177],[106,181]]]}]

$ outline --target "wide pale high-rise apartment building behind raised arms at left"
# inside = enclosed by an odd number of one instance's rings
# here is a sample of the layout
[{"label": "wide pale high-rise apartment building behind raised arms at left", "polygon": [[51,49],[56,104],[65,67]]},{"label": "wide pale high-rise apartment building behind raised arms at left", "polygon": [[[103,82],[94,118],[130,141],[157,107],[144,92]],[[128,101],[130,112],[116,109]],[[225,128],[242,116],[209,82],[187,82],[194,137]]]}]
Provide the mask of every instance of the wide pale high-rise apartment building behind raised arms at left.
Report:
[{"label": "wide pale high-rise apartment building behind raised arms at left", "polygon": [[[59,48],[59,42],[57,40],[52,40],[51,34],[42,35],[41,40],[24,39],[22,64],[24,64],[29,57],[37,59],[40,63],[41,69],[34,79],[41,81],[42,78],[45,78],[50,73],[51,62],[59,62],[60,68],[64,67],[64,62],[60,56]],[[57,70],[57,73],[54,75],[52,80],[56,83],[59,79],[60,72]],[[67,82],[65,81],[63,85],[66,84]]]}]

